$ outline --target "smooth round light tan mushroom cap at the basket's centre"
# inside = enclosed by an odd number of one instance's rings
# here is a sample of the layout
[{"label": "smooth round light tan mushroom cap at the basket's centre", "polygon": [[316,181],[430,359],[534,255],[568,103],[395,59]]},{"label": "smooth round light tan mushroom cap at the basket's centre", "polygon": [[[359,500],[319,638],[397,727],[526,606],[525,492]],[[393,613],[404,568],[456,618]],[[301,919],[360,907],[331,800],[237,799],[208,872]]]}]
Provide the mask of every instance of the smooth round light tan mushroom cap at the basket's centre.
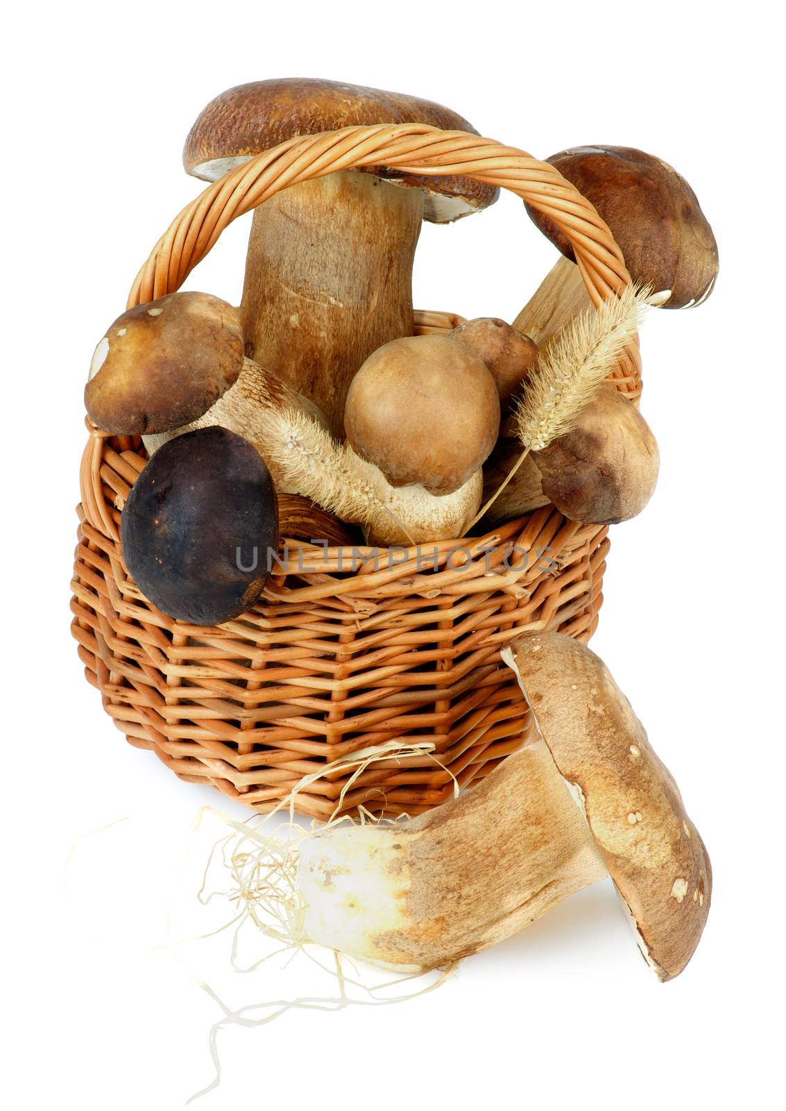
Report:
[{"label": "smooth round light tan mushroom cap at the basket's centre", "polygon": [[344,413],[354,450],[392,486],[457,490],[483,466],[500,430],[486,367],[447,336],[410,336],[377,348],[350,386]]}]

